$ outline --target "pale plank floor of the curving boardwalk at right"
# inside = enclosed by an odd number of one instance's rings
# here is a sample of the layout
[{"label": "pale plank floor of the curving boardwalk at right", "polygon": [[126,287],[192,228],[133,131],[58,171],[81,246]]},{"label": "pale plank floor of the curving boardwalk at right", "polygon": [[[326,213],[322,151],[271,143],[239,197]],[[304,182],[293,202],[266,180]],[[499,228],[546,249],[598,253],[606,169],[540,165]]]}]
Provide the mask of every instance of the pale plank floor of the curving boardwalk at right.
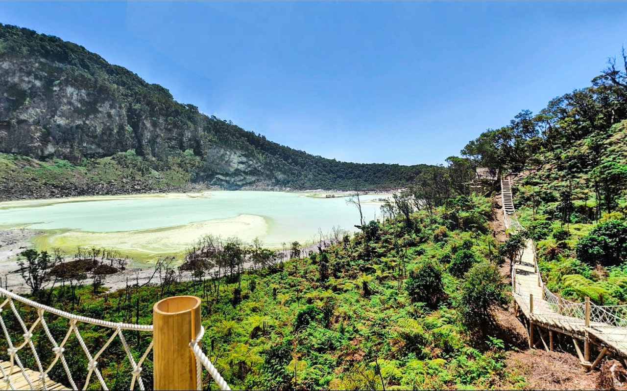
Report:
[{"label": "pale plank floor of the curving boardwalk at right", "polygon": [[[542,288],[538,285],[538,274],[534,267],[533,242],[527,241],[522,260],[515,267],[516,291],[520,296],[515,299],[525,317],[544,327],[562,331],[574,337],[583,338],[586,332],[607,345],[623,357],[627,357],[627,328],[613,327],[605,323],[591,322],[586,327],[584,318],[571,317],[556,313],[554,306],[542,297]],[[534,297],[534,312],[529,313],[529,295]]]}]

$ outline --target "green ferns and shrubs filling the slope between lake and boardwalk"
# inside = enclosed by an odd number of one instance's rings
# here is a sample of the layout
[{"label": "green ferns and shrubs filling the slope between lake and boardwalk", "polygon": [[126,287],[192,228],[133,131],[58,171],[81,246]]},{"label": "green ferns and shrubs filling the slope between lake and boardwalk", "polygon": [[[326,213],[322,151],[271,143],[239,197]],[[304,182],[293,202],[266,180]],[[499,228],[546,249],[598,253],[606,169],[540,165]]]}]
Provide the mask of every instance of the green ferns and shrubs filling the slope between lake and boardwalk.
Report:
[{"label": "green ferns and shrubs filling the slope between lake and boardwalk", "polygon": [[[208,273],[219,265],[227,271],[223,278],[168,280],[174,272],[166,261],[156,284],[106,293],[66,280],[65,287],[34,295],[82,315],[139,323],[150,323],[152,303],[161,297],[198,295],[207,330],[204,347],[233,388],[522,387],[524,380],[505,370],[505,343],[489,327],[491,309],[507,303],[498,245],[487,228],[490,201],[466,196],[448,201],[446,211],[440,206],[433,213],[412,212],[409,224],[397,203],[388,203],[391,215],[383,223],[372,221],[352,237],[330,236],[319,251],[253,272],[241,272],[245,260],[263,266],[263,259],[271,258],[259,243],[206,238],[183,267]],[[462,208],[474,217],[460,225]],[[297,243],[292,251],[298,253]],[[45,266],[36,253],[26,256]],[[5,317],[19,328],[11,319]],[[48,323],[61,339],[65,320]],[[89,346],[102,346],[108,337],[97,327],[81,329]],[[149,342],[137,333],[125,337],[138,352]],[[67,352],[78,349],[71,338]],[[123,355],[114,343],[99,360],[115,388],[130,381],[129,364],[119,359]],[[34,365],[28,354],[22,356]],[[82,353],[66,357],[73,372],[84,373]],[[144,373],[150,373],[150,363]],[[61,367],[54,376],[64,379]]]}]

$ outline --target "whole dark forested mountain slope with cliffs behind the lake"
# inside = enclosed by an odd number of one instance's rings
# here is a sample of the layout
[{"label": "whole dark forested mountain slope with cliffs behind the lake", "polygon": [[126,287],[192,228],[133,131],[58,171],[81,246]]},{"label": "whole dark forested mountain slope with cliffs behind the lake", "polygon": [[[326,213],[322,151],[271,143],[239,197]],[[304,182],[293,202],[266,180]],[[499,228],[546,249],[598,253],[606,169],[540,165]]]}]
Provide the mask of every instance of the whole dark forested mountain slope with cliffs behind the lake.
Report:
[{"label": "whole dark forested mountain slope with cliffs behind the lake", "polygon": [[[5,195],[30,196],[23,182],[41,195],[177,188],[189,181],[394,188],[425,167],[345,163],[278,145],[176,102],[166,88],[82,46],[29,29],[0,24],[0,69],[0,152],[34,159],[0,156]],[[70,175],[50,180],[59,167]],[[137,177],[142,180],[129,180]]]}]

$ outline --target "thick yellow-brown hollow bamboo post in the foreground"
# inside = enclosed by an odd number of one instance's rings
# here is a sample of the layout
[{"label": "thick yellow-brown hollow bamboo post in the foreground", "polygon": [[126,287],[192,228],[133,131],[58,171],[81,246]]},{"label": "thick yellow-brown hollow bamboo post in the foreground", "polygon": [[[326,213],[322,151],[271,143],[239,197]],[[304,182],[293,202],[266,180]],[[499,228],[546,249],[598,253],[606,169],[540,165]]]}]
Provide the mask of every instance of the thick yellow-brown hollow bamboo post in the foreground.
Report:
[{"label": "thick yellow-brown hollow bamboo post in the foreground", "polygon": [[196,389],[196,356],[189,343],[200,333],[201,300],[176,296],[152,308],[155,390]]}]

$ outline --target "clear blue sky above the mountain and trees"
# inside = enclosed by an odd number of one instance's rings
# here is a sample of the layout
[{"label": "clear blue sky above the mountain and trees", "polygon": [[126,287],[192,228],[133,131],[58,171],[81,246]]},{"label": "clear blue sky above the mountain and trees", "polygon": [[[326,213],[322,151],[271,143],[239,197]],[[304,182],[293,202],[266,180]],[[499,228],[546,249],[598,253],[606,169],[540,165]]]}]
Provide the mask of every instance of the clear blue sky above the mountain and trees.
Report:
[{"label": "clear blue sky above the mountain and trees", "polygon": [[443,163],[589,85],[627,3],[2,3],[182,103],[338,160]]}]

